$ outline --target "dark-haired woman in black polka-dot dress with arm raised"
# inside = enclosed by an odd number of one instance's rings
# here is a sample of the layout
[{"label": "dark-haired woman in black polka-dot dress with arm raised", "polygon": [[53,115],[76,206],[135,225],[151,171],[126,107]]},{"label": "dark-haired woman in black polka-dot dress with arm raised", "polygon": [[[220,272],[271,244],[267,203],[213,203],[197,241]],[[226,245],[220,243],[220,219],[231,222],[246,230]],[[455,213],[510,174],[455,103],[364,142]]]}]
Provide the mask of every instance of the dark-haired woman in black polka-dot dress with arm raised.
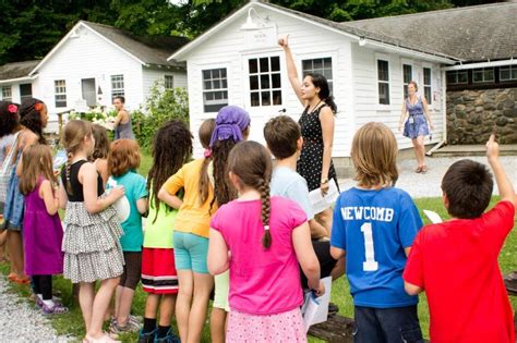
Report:
[{"label": "dark-haired woman in black polka-dot dress with arm raised", "polygon": [[[297,66],[288,45],[289,35],[278,40],[286,53],[289,82],[298,99],[304,107],[299,124],[303,136],[303,147],[297,164],[297,172],[306,180],[309,191],[320,188],[328,192],[329,181],[337,184],[336,170],[332,161],[334,125],[337,107],[330,96],[327,79],[317,73],[298,76]],[[316,219],[330,231],[330,207],[316,215]]]}]

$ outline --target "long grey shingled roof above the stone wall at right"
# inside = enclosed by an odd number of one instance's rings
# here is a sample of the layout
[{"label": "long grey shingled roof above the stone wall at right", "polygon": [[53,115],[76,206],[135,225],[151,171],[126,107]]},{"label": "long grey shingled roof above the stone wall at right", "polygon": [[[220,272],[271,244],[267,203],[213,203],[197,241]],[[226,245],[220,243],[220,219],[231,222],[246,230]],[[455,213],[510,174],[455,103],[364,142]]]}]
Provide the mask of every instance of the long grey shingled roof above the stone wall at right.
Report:
[{"label": "long grey shingled roof above the stone wall at right", "polygon": [[517,3],[502,2],[340,23],[467,62],[517,58]]}]

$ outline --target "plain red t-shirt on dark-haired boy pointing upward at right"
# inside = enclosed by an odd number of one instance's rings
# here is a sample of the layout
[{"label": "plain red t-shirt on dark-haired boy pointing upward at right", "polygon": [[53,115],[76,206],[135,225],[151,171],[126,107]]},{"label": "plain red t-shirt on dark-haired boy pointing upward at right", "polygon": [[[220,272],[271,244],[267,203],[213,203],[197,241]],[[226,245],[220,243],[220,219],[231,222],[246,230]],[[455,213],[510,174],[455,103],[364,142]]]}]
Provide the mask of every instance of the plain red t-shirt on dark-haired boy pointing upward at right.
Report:
[{"label": "plain red t-shirt on dark-haired boy pointing upward at right", "polygon": [[425,290],[431,342],[514,343],[512,306],[497,265],[514,226],[512,203],[477,219],[424,226],[404,280]]}]

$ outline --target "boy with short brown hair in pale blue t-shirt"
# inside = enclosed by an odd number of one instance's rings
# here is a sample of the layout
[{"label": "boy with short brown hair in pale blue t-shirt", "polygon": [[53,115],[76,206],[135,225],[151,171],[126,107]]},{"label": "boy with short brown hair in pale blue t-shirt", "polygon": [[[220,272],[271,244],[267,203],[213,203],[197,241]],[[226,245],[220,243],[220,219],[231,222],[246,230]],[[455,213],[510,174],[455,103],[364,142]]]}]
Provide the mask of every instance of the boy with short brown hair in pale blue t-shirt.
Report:
[{"label": "boy with short brown hair in pale blue t-shirt", "polygon": [[[320,262],[322,278],[332,274],[333,280],[336,280],[345,273],[345,259],[337,261],[330,256],[328,232],[314,220],[306,181],[297,173],[297,160],[303,145],[300,125],[290,117],[278,115],[264,126],[264,138],[267,148],[277,160],[272,176],[272,195],[291,199],[303,209],[309,219],[312,246]],[[301,279],[303,289],[306,289],[306,279],[303,273]],[[332,304],[332,307],[334,313],[337,311],[336,305]]]}]

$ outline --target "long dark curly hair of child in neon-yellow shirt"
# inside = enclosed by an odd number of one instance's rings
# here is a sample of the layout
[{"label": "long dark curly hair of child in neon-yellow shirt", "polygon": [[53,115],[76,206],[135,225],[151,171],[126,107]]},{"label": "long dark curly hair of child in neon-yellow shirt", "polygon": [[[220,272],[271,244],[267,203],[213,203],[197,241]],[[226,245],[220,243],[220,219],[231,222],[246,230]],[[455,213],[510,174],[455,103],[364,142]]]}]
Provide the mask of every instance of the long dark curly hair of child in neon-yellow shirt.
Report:
[{"label": "long dark curly hair of child in neon-yellow shirt", "polygon": [[[164,183],[192,156],[192,134],[180,120],[168,121],[158,130],[153,142],[153,166],[147,174],[147,189],[153,189],[149,205],[158,209],[158,192]],[[156,218],[153,218],[153,222]]]}]

